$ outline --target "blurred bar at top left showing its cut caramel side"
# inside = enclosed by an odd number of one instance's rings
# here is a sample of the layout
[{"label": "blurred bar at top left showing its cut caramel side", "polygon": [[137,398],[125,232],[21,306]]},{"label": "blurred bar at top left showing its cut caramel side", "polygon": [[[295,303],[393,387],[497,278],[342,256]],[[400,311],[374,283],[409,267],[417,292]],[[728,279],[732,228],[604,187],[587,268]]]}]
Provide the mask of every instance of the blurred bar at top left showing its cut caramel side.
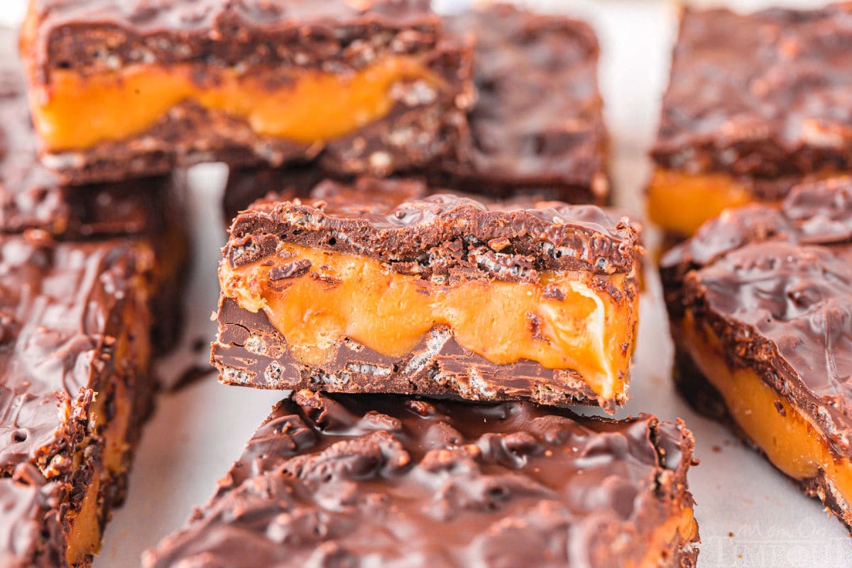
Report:
[{"label": "blurred bar at top left showing its cut caramel side", "polygon": [[451,151],[470,48],[428,0],[33,0],[43,162],[75,184],[319,158],[385,175]]}]

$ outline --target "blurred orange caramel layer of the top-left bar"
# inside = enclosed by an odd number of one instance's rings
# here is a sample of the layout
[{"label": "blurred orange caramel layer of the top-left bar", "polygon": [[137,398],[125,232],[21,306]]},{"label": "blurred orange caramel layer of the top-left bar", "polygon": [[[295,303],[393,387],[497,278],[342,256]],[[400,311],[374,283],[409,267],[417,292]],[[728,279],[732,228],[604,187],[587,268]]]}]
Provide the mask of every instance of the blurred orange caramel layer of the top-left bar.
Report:
[{"label": "blurred orange caramel layer of the top-left bar", "polygon": [[204,86],[193,81],[197,71],[192,64],[134,65],[92,76],[55,69],[49,84],[31,93],[33,122],[47,150],[83,150],[139,135],[191,100],[245,120],[257,135],[313,143],[383,118],[394,105],[394,83],[440,81],[412,56],[385,57],[345,75],[294,69],[282,77],[280,69],[239,74],[205,67]]}]

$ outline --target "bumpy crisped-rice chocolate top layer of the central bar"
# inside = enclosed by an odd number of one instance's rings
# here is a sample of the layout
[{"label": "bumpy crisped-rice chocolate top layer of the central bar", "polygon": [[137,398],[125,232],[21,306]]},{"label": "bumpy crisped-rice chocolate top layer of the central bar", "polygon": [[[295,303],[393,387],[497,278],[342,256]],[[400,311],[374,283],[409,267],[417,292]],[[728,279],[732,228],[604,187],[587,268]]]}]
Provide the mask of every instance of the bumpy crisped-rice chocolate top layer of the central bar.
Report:
[{"label": "bumpy crisped-rice chocolate top layer of the central bar", "polygon": [[[256,203],[237,216],[230,235],[223,254],[233,267],[273,254],[283,240],[370,256],[424,278],[461,267],[512,279],[518,274],[489,267],[521,259],[534,270],[630,273],[641,251],[630,221],[593,205],[532,198],[485,204],[432,193],[422,181],[375,178],[351,186],[323,181],[308,198]],[[471,260],[479,256],[486,260]]]}]

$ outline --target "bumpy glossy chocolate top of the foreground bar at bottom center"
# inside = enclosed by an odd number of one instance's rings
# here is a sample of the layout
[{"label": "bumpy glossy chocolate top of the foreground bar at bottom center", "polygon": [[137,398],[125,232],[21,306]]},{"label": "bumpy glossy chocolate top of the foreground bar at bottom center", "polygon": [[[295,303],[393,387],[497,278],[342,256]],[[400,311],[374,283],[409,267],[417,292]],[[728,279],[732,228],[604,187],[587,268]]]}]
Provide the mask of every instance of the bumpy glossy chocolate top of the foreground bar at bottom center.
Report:
[{"label": "bumpy glossy chocolate top of the foreground bar at bottom center", "polygon": [[691,506],[691,451],[648,415],[302,391],[143,564],[625,565]]}]

